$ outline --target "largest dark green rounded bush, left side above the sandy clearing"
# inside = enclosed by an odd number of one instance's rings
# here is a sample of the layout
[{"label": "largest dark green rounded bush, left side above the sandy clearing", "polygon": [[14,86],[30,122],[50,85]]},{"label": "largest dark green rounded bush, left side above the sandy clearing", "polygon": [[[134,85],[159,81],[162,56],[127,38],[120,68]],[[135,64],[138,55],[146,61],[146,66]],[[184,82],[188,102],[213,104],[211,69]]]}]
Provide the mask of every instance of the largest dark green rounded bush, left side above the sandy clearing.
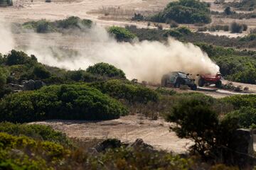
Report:
[{"label": "largest dark green rounded bush, left side above the sandy clearing", "polygon": [[48,86],[4,97],[0,120],[30,122],[46,119],[108,120],[127,114],[127,108],[85,85]]}]

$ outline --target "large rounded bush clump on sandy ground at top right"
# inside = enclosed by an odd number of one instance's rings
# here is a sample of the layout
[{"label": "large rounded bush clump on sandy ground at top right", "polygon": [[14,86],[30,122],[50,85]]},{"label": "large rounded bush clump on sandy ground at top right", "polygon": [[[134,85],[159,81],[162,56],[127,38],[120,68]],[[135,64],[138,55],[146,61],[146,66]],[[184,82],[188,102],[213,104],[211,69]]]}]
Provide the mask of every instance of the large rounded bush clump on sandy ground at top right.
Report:
[{"label": "large rounded bush clump on sandy ground at top right", "polygon": [[151,21],[165,23],[210,23],[210,9],[208,4],[197,0],[180,0],[169,3],[164,11],[151,17]]}]

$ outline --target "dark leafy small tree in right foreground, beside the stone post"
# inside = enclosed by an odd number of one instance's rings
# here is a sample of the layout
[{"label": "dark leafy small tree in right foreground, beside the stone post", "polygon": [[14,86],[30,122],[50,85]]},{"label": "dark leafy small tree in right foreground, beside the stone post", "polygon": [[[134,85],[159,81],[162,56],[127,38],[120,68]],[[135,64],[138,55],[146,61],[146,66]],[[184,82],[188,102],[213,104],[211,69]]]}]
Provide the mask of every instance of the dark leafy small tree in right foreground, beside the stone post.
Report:
[{"label": "dark leafy small tree in right foreground, beside the stone post", "polygon": [[178,137],[193,139],[195,142],[191,147],[193,152],[198,152],[206,158],[215,147],[218,115],[205,101],[198,99],[182,101],[174,106],[167,120],[176,123],[171,130],[174,130]]}]

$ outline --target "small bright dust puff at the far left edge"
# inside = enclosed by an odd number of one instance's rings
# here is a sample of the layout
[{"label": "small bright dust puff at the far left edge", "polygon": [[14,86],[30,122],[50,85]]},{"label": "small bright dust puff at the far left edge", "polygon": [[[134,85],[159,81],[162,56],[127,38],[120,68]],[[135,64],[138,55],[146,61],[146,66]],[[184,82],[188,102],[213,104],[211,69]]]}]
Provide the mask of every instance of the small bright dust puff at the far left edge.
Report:
[{"label": "small bright dust puff at the far left edge", "polygon": [[0,52],[6,53],[14,49],[14,38],[11,34],[11,26],[0,18]]}]

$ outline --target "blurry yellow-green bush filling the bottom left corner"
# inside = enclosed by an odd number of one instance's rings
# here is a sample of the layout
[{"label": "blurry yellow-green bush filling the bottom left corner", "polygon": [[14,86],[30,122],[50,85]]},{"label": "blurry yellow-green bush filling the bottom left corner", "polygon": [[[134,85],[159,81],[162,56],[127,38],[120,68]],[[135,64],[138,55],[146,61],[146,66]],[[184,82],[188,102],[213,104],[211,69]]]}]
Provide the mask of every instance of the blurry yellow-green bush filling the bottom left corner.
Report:
[{"label": "blurry yellow-green bush filling the bottom left corner", "polygon": [[49,169],[50,164],[60,164],[69,153],[53,142],[0,132],[0,169]]}]

